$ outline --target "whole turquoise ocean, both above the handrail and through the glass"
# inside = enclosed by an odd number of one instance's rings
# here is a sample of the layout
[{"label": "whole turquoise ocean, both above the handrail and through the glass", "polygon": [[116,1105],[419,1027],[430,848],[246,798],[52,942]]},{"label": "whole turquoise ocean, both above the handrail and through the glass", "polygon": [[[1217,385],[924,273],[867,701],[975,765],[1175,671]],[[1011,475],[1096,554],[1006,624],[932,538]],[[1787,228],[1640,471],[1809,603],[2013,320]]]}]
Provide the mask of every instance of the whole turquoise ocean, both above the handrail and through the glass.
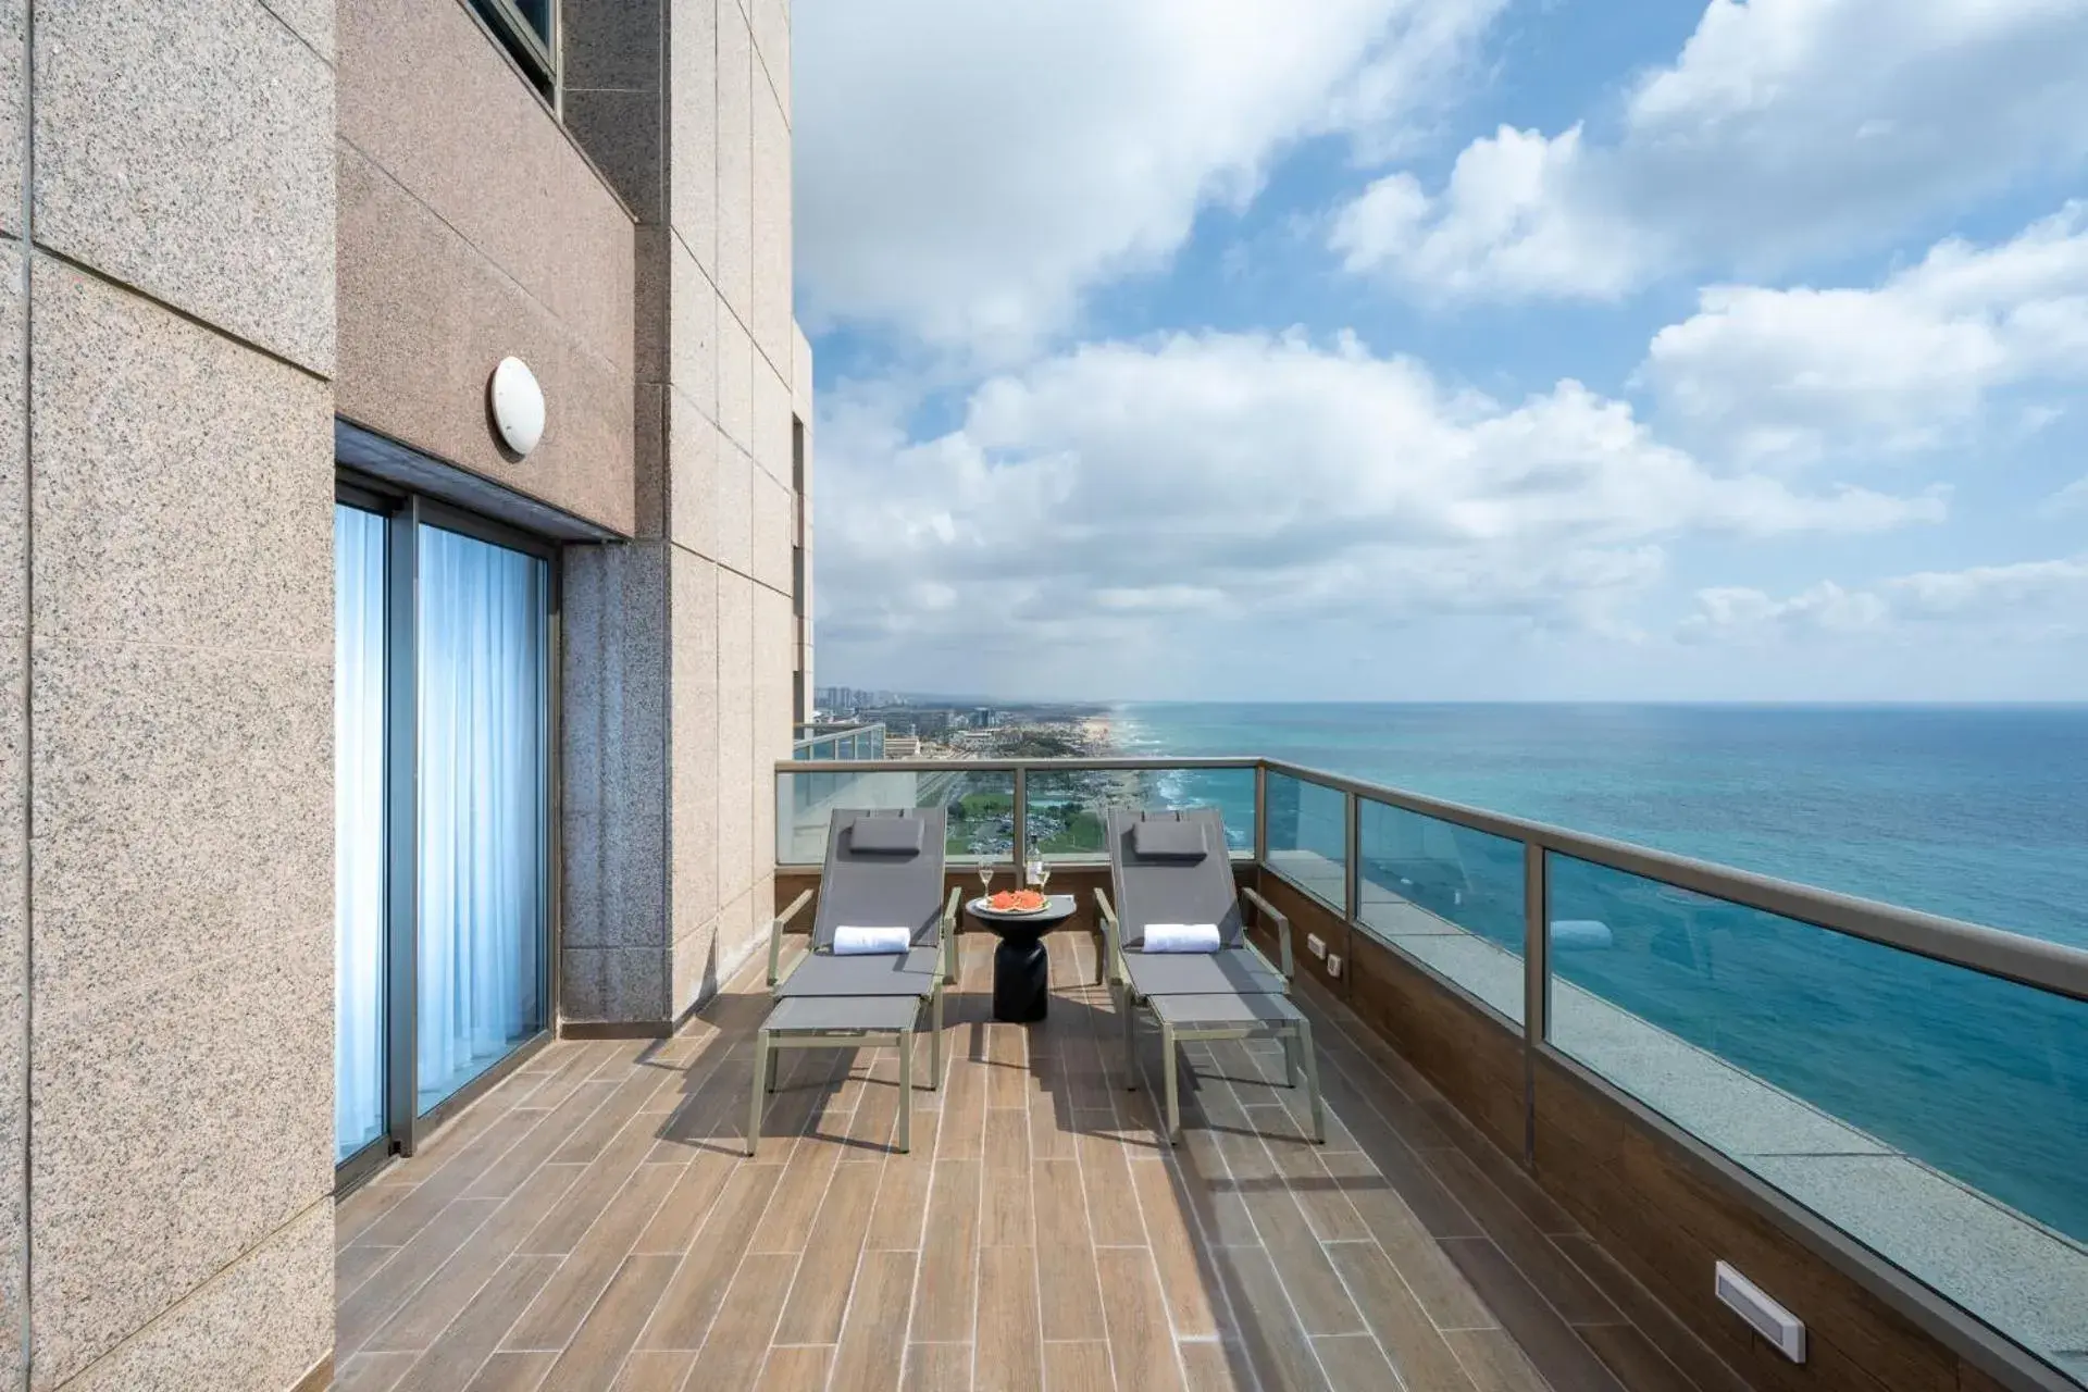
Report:
[{"label": "whole turquoise ocean, both above the handrail and through the glass", "polygon": [[[1142,703],[1111,730],[2088,947],[2088,707]],[[1340,856],[1338,799],[1286,785],[1278,816],[1274,787],[1272,845]],[[1247,835],[1240,774],[1161,791]],[[1366,816],[1372,883],[1520,952],[1520,845]],[[1562,979],[2088,1244],[2088,1004],[1583,862],[1551,887],[1606,939]]]}]

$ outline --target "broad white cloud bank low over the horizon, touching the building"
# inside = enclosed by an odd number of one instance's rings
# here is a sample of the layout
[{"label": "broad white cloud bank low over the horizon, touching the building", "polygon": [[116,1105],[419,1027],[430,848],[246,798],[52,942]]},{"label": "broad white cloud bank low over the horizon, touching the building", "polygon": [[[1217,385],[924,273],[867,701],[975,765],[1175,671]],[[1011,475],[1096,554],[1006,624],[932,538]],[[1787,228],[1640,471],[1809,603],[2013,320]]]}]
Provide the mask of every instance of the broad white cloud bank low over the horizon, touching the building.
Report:
[{"label": "broad white cloud bank low over the horizon, touching the building", "polygon": [[[1430,616],[1618,630],[1683,536],[1846,534],[1942,499],[1718,474],[1576,382],[1522,403],[1355,338],[1088,344],[896,445],[821,422],[821,651],[1029,653],[1082,687],[1161,641]],[[908,599],[915,586],[958,597]]]}]

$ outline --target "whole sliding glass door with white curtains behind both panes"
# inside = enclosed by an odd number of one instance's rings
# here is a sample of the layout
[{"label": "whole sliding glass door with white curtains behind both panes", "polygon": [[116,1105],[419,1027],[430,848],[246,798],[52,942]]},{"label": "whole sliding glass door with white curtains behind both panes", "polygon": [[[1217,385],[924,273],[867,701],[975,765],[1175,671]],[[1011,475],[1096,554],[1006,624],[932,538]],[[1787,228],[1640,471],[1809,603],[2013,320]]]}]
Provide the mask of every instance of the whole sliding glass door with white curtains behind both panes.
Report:
[{"label": "whole sliding glass door with white curtains behind both panes", "polygon": [[549,1021],[551,551],[334,507],[334,1158],[345,1181]]}]

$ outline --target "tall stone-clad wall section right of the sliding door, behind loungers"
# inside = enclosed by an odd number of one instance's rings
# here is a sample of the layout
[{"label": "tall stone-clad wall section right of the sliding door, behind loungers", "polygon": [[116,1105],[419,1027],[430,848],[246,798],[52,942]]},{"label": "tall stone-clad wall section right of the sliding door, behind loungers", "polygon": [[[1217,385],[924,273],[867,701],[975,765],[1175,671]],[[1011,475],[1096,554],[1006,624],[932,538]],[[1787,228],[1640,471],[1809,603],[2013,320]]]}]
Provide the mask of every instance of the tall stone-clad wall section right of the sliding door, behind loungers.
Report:
[{"label": "tall stone-clad wall section right of the sliding door, behind loungers", "polygon": [[639,474],[637,541],[570,572],[568,680],[601,670],[624,718],[568,749],[568,858],[599,889],[568,881],[566,1006],[664,1023],[754,950],[775,897],[812,369],[789,2],[568,0],[564,19],[566,121],[637,219]]}]

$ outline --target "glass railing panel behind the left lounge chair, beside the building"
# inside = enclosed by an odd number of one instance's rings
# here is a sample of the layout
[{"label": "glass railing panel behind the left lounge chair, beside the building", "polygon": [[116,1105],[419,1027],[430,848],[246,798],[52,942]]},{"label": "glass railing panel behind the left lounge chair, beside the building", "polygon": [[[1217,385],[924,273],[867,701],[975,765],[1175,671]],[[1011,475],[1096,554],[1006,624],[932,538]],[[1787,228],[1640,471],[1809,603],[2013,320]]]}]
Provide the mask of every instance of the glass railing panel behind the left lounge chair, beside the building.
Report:
[{"label": "glass railing panel behind the left lounge chair, beside the building", "polygon": [[777,864],[816,866],[837,808],[946,808],[952,862],[1006,862],[1015,849],[1015,774],[967,768],[777,774]]}]

